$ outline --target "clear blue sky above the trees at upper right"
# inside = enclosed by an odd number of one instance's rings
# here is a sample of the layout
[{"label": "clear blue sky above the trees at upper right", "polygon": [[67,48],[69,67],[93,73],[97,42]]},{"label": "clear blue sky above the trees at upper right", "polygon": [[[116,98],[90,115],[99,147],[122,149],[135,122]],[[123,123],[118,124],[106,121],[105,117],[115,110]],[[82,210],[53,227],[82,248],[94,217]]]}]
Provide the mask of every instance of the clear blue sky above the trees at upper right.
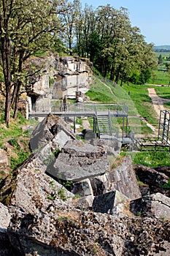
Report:
[{"label": "clear blue sky above the trees at upper right", "polygon": [[154,45],[170,45],[170,0],[80,0],[98,7],[110,4],[115,9],[128,9],[132,26],[138,26],[145,41]]}]

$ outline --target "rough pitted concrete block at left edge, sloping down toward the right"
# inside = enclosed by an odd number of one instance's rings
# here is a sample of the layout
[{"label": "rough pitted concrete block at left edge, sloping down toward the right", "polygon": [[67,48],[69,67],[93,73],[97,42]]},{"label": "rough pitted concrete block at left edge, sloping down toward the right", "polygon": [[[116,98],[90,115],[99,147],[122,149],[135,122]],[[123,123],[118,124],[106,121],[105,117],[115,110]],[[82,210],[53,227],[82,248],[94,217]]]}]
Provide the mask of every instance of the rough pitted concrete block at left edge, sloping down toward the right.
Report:
[{"label": "rough pitted concrete block at left edge, sloping down toward the right", "polygon": [[53,207],[72,205],[74,195],[45,173],[36,169],[13,171],[0,184],[0,202],[6,206],[18,206],[28,214],[46,212],[53,202]]}]

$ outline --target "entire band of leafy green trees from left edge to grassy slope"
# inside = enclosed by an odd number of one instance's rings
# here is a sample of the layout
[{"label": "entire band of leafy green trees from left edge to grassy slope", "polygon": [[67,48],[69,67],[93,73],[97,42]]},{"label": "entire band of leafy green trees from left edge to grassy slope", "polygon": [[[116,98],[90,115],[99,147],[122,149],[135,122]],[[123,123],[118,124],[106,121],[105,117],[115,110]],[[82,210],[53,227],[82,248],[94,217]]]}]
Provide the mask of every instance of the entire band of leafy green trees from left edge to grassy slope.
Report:
[{"label": "entire band of leafy green trees from left edge to grassy slope", "polygon": [[131,26],[127,9],[109,4],[82,9],[80,0],[1,0],[0,50],[7,124],[11,110],[17,117],[21,88],[32,75],[26,61],[37,53],[88,58],[104,78],[120,85],[145,83],[158,62],[153,45]]}]

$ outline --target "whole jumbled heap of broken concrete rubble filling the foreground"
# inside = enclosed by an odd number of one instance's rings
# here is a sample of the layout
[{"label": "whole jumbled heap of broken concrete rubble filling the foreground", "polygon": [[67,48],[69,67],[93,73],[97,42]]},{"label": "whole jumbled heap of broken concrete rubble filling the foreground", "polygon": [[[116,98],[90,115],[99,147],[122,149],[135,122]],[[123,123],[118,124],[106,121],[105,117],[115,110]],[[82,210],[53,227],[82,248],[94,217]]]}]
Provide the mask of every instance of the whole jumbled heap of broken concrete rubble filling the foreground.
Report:
[{"label": "whole jumbled heap of broken concrete rubble filling the foreground", "polygon": [[0,184],[0,255],[170,255],[169,168],[133,166],[119,143],[77,140],[54,116],[30,144]]}]

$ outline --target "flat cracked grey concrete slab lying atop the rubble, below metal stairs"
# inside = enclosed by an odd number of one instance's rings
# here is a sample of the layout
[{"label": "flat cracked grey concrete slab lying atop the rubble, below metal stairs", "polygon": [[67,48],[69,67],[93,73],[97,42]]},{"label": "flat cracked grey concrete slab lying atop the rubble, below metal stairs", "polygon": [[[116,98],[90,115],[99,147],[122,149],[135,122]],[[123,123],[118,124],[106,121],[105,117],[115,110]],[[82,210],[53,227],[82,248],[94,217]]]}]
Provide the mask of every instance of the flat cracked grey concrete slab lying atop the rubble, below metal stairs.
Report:
[{"label": "flat cracked grey concrete slab lying atop the rubble, below metal stairs", "polygon": [[81,181],[100,176],[108,170],[109,161],[104,148],[69,140],[47,173],[62,180]]}]

